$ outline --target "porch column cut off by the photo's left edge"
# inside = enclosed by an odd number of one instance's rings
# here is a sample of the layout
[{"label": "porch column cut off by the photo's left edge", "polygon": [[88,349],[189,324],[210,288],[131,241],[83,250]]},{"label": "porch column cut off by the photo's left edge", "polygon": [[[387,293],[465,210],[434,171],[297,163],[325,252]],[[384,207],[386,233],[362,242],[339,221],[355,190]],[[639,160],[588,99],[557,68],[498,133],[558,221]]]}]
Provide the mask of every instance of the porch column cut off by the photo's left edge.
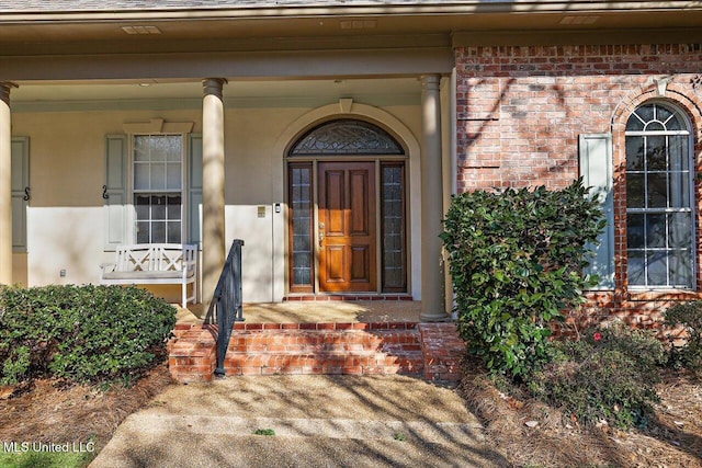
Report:
[{"label": "porch column cut off by the photo's left edge", "polygon": [[12,284],[12,88],[0,82],[0,284]]}]

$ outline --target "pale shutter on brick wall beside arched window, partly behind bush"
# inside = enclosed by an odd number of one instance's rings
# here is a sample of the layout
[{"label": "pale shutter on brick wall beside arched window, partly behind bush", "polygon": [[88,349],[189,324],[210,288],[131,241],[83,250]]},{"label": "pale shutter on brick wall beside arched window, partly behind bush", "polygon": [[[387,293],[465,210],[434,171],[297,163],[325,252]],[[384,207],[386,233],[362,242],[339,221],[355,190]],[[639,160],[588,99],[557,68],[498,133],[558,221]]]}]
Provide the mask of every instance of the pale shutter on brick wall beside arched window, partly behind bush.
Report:
[{"label": "pale shutter on brick wall beside arched window, partly behind bush", "polygon": [[600,233],[599,246],[588,246],[595,252],[586,274],[600,276],[598,289],[614,288],[614,203],[612,199],[612,135],[580,135],[580,175],[590,195],[601,204],[607,227]]}]

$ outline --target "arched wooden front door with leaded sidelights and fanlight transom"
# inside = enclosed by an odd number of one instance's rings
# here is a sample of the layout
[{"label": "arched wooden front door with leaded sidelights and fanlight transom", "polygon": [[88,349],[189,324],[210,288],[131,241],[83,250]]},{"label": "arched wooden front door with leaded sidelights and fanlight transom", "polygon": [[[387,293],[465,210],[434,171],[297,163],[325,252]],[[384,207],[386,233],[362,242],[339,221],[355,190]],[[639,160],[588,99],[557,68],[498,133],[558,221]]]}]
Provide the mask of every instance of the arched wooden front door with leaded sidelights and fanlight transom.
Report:
[{"label": "arched wooden front door with leaded sidelights and fanlight transom", "polygon": [[291,293],[407,293],[406,155],[370,122],[339,118],[287,152]]}]

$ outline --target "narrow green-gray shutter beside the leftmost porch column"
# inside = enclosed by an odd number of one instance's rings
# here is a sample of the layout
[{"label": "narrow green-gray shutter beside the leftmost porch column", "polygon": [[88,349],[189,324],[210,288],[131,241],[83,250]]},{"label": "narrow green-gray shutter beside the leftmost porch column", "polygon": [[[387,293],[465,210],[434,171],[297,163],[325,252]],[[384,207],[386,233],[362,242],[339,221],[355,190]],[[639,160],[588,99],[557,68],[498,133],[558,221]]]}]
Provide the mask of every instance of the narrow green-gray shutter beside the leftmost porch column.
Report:
[{"label": "narrow green-gray shutter beside the leftmost porch column", "polygon": [[30,139],[12,138],[12,251],[26,252],[26,215],[30,206]]}]

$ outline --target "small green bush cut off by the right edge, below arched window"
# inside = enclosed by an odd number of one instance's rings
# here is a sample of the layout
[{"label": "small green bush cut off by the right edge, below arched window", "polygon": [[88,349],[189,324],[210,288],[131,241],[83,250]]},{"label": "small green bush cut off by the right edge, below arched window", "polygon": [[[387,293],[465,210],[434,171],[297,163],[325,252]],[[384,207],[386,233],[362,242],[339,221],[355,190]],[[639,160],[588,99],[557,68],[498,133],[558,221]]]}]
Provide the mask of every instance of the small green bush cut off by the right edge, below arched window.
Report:
[{"label": "small green bush cut off by the right edge, below arched window", "polygon": [[665,324],[683,332],[684,343],[670,349],[670,365],[702,374],[702,300],[677,304],[664,313]]}]

